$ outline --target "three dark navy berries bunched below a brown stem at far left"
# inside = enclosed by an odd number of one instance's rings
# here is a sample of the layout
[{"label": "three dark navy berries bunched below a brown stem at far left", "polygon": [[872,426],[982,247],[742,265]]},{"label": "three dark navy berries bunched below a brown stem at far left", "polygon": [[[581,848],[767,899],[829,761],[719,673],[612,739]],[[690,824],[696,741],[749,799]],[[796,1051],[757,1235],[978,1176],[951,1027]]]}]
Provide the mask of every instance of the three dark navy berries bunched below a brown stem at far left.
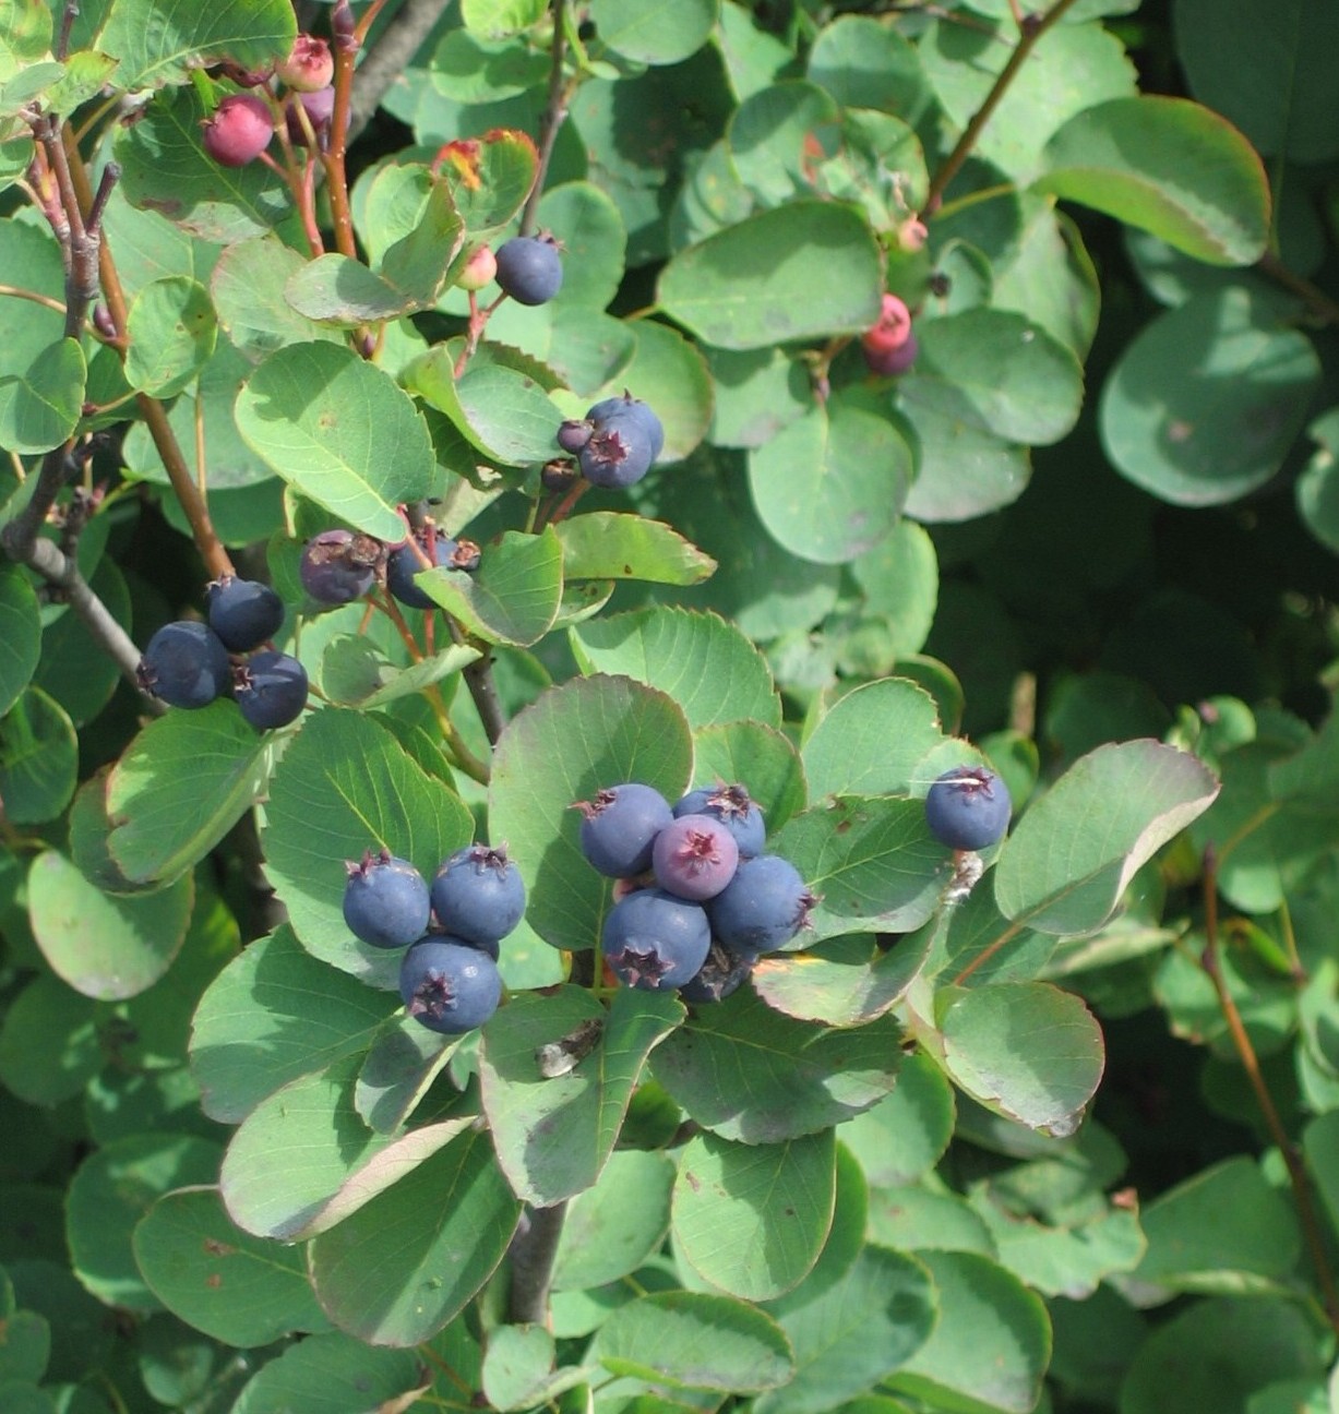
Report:
[{"label": "three dark navy berries bunched below a brown stem at far left", "polygon": [[232,697],[257,731],[296,721],[307,706],[307,669],[260,646],[283,624],[283,600],[267,584],[229,574],[206,585],[205,608],[208,622],[164,624],[148,641],[137,674],[144,691],[188,708]]}]

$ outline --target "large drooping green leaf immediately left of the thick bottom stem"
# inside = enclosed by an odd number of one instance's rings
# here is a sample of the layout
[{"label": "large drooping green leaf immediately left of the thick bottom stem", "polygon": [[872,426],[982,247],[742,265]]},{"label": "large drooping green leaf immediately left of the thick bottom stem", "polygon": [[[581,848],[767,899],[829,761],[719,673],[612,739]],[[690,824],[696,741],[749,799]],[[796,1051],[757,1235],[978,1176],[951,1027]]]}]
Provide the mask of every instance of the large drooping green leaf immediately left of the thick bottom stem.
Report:
[{"label": "large drooping green leaf immediately left of the thick bottom stem", "polygon": [[419,1345],[488,1281],[518,1222],[520,1202],[488,1134],[468,1130],[315,1237],[311,1281],[339,1329],[372,1345]]}]

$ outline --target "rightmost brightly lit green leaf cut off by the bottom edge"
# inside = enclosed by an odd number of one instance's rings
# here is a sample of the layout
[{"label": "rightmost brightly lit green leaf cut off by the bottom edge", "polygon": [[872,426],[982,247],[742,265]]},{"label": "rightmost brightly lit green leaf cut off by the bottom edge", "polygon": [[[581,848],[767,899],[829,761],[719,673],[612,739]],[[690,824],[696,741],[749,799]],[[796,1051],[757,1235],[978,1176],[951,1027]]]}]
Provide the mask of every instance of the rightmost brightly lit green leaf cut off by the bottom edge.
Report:
[{"label": "rightmost brightly lit green leaf cut off by the bottom edge", "polygon": [[918,1256],[935,1281],[939,1321],[891,1389],[940,1407],[1029,1414],[1051,1359],[1051,1322],[1041,1298],[976,1253]]}]

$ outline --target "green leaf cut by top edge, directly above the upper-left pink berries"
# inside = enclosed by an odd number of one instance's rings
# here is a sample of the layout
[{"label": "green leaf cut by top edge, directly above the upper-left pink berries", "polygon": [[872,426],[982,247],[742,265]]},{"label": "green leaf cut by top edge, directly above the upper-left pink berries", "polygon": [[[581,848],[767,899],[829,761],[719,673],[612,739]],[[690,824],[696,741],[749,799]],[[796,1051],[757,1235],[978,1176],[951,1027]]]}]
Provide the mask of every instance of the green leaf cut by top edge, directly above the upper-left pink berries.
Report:
[{"label": "green leaf cut by top edge, directly above the upper-left pink berries", "polygon": [[137,89],[182,83],[192,68],[232,59],[260,69],[284,59],[297,38],[287,0],[235,0],[222,8],[174,0],[115,0],[99,48],[120,59],[116,81]]}]

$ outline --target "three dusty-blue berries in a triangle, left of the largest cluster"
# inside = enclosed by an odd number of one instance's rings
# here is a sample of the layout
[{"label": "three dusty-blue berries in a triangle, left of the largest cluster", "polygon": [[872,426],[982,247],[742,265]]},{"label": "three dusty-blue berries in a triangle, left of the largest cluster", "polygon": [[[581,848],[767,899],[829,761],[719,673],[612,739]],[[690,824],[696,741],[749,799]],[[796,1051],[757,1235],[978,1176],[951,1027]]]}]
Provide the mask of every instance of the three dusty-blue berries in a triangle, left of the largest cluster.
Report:
[{"label": "three dusty-blue berries in a triangle, left of the largest cluster", "polygon": [[400,997],[430,1031],[482,1027],[502,1000],[498,953],[526,911],[526,887],[506,846],[467,844],[431,885],[389,850],[349,861],[344,921],[372,947],[404,947]]}]

